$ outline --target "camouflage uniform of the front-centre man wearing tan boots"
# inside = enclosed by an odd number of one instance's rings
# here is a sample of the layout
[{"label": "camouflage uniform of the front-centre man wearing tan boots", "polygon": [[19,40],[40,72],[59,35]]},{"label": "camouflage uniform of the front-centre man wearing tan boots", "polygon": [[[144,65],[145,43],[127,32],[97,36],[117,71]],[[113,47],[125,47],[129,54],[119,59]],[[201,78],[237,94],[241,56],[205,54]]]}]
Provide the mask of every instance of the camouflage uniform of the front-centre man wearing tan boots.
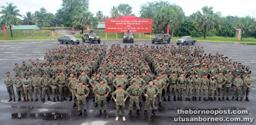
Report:
[{"label": "camouflage uniform of the front-centre man wearing tan boots", "polygon": [[[118,90],[114,91],[112,93],[112,98],[116,99],[116,116],[119,116],[119,111],[122,110],[122,116],[125,116],[125,102],[123,102],[124,99],[128,98],[128,93],[124,90],[119,92]],[[116,97],[115,97],[116,96]]]}]

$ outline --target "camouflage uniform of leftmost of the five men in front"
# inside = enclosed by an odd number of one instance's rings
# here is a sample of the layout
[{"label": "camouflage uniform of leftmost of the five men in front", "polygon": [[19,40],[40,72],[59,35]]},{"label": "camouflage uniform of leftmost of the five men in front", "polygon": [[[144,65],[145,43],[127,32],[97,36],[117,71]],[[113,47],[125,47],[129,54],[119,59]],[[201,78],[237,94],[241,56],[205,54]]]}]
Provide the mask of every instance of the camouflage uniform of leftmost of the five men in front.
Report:
[{"label": "camouflage uniform of leftmost of the five men in front", "polygon": [[88,96],[89,91],[90,90],[85,85],[82,85],[82,87],[79,87],[79,85],[74,86],[74,94],[77,94],[78,111],[82,110],[82,104],[83,109],[86,110],[86,100],[84,96]]}]

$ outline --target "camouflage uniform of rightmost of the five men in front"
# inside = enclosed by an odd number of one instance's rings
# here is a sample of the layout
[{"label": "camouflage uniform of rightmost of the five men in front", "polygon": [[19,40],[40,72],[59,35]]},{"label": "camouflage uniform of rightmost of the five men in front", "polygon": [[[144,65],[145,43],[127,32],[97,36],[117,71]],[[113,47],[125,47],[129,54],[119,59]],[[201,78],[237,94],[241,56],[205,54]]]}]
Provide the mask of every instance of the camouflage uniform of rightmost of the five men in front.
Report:
[{"label": "camouflage uniform of rightmost of the five men in front", "polygon": [[154,95],[158,95],[159,94],[159,89],[157,86],[153,85],[153,86],[145,86],[143,88],[143,93],[147,94],[148,97],[146,97],[146,102],[145,102],[145,108],[144,110],[148,110],[149,109],[149,104],[151,103],[151,108],[152,110],[156,110],[155,107],[155,102],[156,102],[156,98],[154,98]]}]

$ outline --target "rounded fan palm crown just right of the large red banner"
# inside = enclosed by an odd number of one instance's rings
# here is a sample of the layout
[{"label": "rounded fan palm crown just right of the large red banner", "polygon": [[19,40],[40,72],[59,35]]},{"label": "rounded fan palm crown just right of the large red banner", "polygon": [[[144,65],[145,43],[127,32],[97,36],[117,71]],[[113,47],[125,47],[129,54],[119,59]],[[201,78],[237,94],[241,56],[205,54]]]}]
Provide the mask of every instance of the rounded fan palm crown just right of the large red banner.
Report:
[{"label": "rounded fan palm crown just right of the large red banner", "polygon": [[167,30],[167,27],[174,28],[177,24],[176,13],[170,7],[163,7],[153,17],[153,26],[158,30]]}]

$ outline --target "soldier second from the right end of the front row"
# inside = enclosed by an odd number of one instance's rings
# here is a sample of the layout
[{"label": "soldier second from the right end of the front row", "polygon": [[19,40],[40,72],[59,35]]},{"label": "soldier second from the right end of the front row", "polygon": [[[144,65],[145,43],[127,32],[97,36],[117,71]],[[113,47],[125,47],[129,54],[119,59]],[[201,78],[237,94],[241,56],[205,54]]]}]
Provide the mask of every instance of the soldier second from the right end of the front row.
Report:
[{"label": "soldier second from the right end of the front row", "polygon": [[240,75],[240,74],[237,74],[236,76],[237,76],[237,78],[235,78],[234,81],[233,81],[233,84],[234,84],[234,92],[233,92],[232,101],[234,100],[234,97],[235,97],[235,96],[237,97],[237,101],[239,101],[240,89],[241,89],[241,86],[244,85],[243,80],[240,78],[241,75]]}]

